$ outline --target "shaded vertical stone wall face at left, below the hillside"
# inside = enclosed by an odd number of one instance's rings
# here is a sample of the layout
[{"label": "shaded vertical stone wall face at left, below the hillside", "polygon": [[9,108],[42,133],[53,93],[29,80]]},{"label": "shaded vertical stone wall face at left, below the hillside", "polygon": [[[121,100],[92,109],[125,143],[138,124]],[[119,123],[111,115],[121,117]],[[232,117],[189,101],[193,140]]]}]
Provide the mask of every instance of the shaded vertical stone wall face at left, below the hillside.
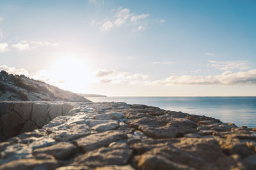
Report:
[{"label": "shaded vertical stone wall face at left, below the hillside", "polygon": [[1,141],[31,132],[48,124],[53,118],[66,115],[77,103],[10,101],[0,103]]}]

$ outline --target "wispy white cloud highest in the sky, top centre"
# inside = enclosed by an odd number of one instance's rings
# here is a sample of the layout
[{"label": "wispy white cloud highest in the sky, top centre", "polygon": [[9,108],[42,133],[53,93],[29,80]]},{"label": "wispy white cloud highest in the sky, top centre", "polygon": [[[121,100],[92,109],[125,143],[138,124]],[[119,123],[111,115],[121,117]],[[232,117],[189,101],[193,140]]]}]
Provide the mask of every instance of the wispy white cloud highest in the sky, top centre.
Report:
[{"label": "wispy white cloud highest in the sky, top centre", "polygon": [[[120,27],[121,25],[127,24],[128,26],[136,26],[140,24],[137,22],[138,20],[145,19],[149,17],[150,15],[147,14],[141,14],[141,15],[134,15],[134,13],[131,13],[131,10],[128,8],[118,8],[118,10],[115,10],[115,14],[110,17],[110,19],[105,19],[102,22],[96,22],[95,20],[92,20],[90,25],[100,25],[99,29],[102,31],[108,31],[110,29],[113,29],[115,27]],[[131,24],[132,23],[132,24]],[[140,25],[136,28],[137,30],[144,30],[145,27],[143,25]]]}]

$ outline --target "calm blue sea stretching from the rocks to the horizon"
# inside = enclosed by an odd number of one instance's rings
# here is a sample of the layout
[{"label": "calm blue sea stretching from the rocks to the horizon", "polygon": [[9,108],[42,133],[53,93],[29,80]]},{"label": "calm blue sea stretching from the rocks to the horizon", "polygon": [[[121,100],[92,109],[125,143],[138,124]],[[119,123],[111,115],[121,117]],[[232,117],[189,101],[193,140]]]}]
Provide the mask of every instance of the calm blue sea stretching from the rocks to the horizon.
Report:
[{"label": "calm blue sea stretching from the rocks to the horizon", "polygon": [[94,102],[147,104],[164,110],[205,115],[241,127],[256,127],[256,97],[89,97]]}]

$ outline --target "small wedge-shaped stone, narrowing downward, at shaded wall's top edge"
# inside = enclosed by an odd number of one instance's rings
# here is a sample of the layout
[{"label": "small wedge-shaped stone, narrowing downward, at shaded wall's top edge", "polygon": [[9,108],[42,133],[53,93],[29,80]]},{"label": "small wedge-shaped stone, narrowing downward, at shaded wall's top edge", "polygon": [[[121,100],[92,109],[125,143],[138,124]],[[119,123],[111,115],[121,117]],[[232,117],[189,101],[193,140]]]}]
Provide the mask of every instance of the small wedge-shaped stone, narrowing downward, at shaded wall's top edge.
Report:
[{"label": "small wedge-shaped stone, narrowing downward, at shaded wall's top edge", "polygon": [[13,109],[24,118],[24,120],[30,120],[33,103],[14,103]]}]

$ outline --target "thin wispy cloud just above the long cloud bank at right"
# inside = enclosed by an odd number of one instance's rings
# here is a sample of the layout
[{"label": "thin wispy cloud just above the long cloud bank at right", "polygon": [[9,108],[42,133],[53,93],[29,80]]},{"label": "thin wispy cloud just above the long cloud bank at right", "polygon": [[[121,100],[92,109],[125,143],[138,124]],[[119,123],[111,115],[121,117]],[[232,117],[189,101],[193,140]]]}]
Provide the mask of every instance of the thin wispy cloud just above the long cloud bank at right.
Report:
[{"label": "thin wispy cloud just above the long cloud bank at right", "polygon": [[216,67],[220,70],[232,70],[232,69],[250,69],[248,66],[248,62],[245,60],[235,60],[235,61],[215,61],[210,60],[211,64],[209,64],[212,67]]}]

